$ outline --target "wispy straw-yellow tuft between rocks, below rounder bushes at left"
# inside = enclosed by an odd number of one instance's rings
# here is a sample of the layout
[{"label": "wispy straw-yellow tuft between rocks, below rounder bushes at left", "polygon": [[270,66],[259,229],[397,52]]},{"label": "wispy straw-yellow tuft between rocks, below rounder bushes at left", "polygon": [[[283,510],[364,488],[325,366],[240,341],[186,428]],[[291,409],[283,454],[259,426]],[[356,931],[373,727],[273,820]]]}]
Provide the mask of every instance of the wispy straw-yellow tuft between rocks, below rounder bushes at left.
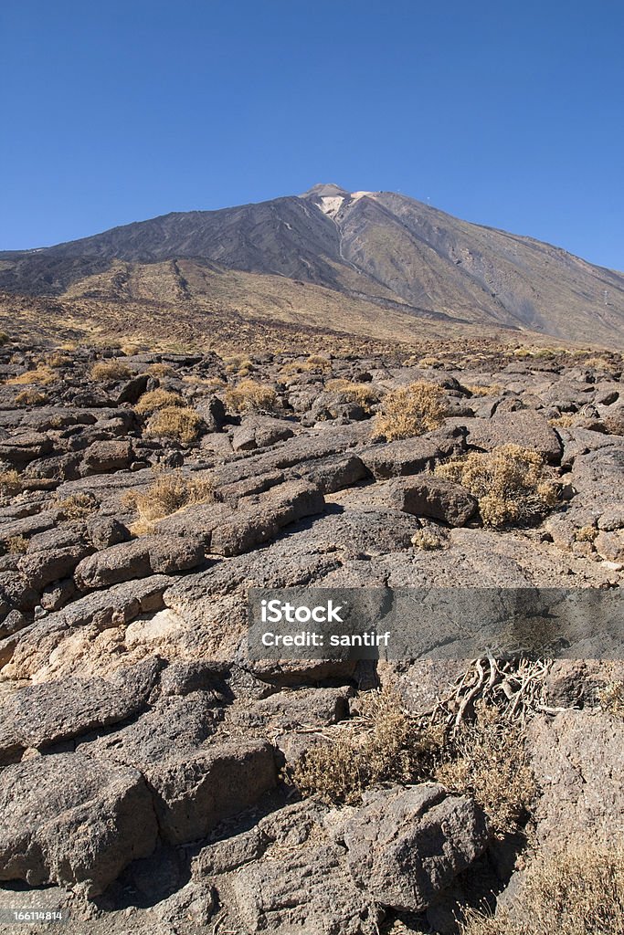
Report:
[{"label": "wispy straw-yellow tuft between rocks, below rounder bushes at left", "polygon": [[154,469],[154,481],[143,493],[134,490],[123,496],[124,506],[138,511],[138,520],[130,530],[135,536],[152,532],[155,523],[195,503],[211,503],[215,499],[210,478],[191,479],[179,470],[170,474]]}]

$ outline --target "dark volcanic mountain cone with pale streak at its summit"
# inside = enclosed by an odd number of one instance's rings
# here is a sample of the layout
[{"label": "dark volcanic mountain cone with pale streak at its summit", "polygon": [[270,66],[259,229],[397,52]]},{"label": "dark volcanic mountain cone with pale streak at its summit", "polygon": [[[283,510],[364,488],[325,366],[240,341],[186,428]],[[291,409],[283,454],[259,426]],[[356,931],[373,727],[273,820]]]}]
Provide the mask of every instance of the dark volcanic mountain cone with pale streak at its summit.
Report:
[{"label": "dark volcanic mountain cone with pale streak at its summit", "polygon": [[[624,344],[622,274],[404,195],[348,193],[336,185],[238,208],[167,214],[46,250],[3,253],[0,289],[85,295],[89,281],[115,263],[181,260],[209,272],[218,265],[312,283],[418,319]],[[195,280],[189,295],[210,297],[213,278]],[[385,314],[380,309],[380,321]]]}]

